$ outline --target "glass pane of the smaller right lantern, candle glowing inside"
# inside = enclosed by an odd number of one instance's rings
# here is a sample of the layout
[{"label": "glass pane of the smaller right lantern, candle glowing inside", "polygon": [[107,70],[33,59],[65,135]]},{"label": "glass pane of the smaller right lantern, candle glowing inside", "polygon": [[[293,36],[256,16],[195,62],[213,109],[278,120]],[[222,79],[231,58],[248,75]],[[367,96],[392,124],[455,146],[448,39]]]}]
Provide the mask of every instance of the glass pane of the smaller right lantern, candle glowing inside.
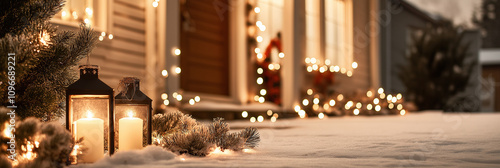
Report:
[{"label": "glass pane of the smaller right lantern, candle glowing inside", "polygon": [[148,145],[149,109],[146,104],[115,105],[115,148],[126,151]]}]

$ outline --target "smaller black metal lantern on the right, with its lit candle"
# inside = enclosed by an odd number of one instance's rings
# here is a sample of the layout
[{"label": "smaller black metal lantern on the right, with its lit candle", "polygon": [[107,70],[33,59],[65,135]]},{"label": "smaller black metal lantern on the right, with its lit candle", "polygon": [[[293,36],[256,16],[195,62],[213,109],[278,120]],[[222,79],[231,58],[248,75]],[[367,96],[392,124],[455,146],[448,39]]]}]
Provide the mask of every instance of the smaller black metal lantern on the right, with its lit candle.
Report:
[{"label": "smaller black metal lantern on the right, with its lit candle", "polygon": [[115,148],[142,149],[151,144],[152,100],[141,92],[139,79],[125,77],[115,96]]}]

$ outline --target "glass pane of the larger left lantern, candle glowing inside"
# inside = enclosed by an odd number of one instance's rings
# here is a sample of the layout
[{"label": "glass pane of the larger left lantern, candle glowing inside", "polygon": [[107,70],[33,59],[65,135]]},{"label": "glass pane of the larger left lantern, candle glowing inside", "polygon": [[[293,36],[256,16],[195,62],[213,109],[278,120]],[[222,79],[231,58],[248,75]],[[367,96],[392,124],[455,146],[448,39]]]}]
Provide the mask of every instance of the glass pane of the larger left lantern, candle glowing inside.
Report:
[{"label": "glass pane of the larger left lantern, candle glowing inside", "polygon": [[70,95],[70,131],[75,140],[83,138],[79,149],[85,150],[78,163],[95,162],[108,152],[109,101],[108,95]]}]

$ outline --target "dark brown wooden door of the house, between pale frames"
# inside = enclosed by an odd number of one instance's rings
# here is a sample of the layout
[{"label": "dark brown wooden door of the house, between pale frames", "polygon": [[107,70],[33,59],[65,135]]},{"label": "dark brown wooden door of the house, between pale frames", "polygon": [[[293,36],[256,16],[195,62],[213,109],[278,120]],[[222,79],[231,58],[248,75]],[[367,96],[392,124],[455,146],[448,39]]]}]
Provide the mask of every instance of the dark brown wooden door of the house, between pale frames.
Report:
[{"label": "dark brown wooden door of the house, between pale frames", "polygon": [[[229,95],[228,0],[181,1],[181,88]],[[226,11],[226,12],[224,12]]]}]

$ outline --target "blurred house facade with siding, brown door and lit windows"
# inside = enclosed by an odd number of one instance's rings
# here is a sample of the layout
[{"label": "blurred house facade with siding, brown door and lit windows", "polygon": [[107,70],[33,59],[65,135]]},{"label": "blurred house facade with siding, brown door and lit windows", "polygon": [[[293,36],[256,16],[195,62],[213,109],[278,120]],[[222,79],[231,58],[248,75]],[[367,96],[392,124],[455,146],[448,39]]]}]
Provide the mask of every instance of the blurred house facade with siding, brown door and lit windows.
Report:
[{"label": "blurred house facade with siding, brown door and lit windows", "polygon": [[[405,38],[399,36],[406,35],[407,28],[399,26],[432,23],[409,4],[391,0],[68,0],[67,4],[65,14],[52,22],[75,29],[78,21],[84,21],[101,34],[90,62],[100,66],[104,82],[116,88],[122,77],[138,77],[141,90],[157,109],[169,104],[189,111],[292,112],[317,78],[311,77],[315,71],[333,72],[334,82],[328,87],[346,94],[391,87],[395,75],[389,67],[401,62],[391,54],[406,47]],[[276,39],[278,50],[265,53]],[[262,70],[255,65],[263,56],[272,64],[266,67],[279,70],[279,105],[259,102]],[[269,88],[266,91],[271,94]],[[202,101],[189,106],[197,96]]]}]

